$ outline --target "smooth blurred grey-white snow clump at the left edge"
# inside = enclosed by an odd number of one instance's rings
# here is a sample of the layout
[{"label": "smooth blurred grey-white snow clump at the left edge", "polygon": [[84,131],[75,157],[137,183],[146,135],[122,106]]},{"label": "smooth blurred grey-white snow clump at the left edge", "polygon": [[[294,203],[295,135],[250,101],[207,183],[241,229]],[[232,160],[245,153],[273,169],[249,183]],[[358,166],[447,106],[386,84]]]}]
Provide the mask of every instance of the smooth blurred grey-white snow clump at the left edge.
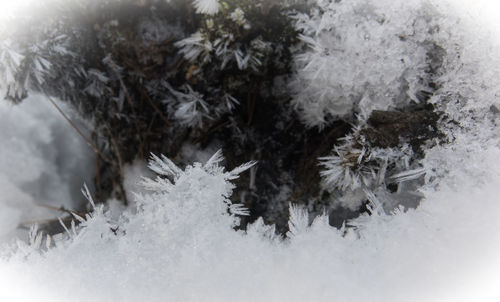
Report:
[{"label": "smooth blurred grey-white snow clump at the left edge", "polygon": [[[21,223],[55,218],[44,206],[75,208],[90,180],[92,155],[74,130],[41,96],[20,105],[0,102],[0,241]],[[85,171],[76,174],[75,171]]]}]

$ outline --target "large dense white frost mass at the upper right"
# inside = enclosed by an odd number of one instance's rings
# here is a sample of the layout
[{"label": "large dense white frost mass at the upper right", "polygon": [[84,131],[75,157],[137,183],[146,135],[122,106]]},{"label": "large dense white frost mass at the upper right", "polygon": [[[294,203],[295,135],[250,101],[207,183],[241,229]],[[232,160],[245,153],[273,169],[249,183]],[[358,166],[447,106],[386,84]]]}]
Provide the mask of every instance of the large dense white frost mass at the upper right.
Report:
[{"label": "large dense white frost mass at the upper right", "polygon": [[295,19],[306,50],[289,87],[308,126],[419,103],[436,88],[444,29],[424,1],[318,1]]}]

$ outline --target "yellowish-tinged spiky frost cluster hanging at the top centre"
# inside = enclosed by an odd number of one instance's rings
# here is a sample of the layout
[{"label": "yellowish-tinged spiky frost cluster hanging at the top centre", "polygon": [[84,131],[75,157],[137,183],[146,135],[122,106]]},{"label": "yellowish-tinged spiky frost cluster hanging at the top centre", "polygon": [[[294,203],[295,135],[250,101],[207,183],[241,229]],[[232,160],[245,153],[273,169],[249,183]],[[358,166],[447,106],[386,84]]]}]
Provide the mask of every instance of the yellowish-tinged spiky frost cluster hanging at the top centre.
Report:
[{"label": "yellowish-tinged spiky frost cluster hanging at the top centre", "polygon": [[[211,1],[200,1],[211,2]],[[195,2],[196,4],[197,2]],[[239,70],[261,73],[273,52],[279,52],[277,40],[262,30],[258,12],[264,1],[228,1],[220,4],[216,14],[207,13],[201,28],[176,46],[184,57],[198,68],[212,63],[221,70],[235,65]],[[275,16],[277,17],[277,16]],[[215,61],[215,62],[212,62]]]}]

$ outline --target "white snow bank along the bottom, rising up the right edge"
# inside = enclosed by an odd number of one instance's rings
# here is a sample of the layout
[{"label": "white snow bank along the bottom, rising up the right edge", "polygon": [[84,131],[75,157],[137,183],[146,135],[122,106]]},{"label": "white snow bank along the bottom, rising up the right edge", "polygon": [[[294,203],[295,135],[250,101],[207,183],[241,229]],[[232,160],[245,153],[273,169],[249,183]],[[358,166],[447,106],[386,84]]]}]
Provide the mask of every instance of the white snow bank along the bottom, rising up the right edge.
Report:
[{"label": "white snow bank along the bottom, rising up the right edge", "polygon": [[48,244],[33,235],[2,248],[0,301],[499,301],[499,52],[470,28],[433,100],[462,128],[426,152],[417,209],[373,203],[338,230],[291,206],[287,239],[260,220],[236,232],[231,180],[248,166],[156,159],[164,177],[144,181],[134,213],[98,206]]}]

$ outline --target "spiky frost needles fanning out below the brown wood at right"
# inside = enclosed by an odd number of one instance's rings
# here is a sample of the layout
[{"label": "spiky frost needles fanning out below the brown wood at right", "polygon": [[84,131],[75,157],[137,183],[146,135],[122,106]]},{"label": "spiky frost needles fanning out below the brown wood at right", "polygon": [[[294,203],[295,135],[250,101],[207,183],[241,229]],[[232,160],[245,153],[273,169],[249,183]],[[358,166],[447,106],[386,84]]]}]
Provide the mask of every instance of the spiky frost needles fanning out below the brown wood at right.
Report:
[{"label": "spiky frost needles fanning out below the brown wood at right", "polygon": [[360,134],[359,127],[344,137],[341,144],[334,146],[330,156],[319,160],[324,168],[320,172],[323,187],[340,195],[337,204],[353,210],[367,200],[368,195],[373,194],[390,211],[405,200],[398,201],[398,198],[404,198],[402,195],[391,197],[394,192],[387,190],[387,185],[396,184],[397,194],[405,190],[414,192],[416,187],[413,184],[405,186],[404,183],[421,180],[425,174],[425,169],[415,163],[410,146],[371,147]]}]

